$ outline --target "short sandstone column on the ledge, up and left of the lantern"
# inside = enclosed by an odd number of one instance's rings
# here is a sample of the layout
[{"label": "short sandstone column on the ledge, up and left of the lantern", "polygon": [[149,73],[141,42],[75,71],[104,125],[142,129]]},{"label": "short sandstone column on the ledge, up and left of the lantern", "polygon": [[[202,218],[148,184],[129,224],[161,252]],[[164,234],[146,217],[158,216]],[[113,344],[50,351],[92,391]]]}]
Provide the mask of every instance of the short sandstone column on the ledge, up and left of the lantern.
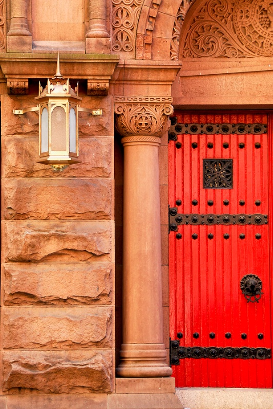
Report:
[{"label": "short sandstone column on the ledge, up and left of the lantern", "polygon": [[28,25],[28,0],[10,0],[10,29],[7,34],[8,52],[32,52]]}]

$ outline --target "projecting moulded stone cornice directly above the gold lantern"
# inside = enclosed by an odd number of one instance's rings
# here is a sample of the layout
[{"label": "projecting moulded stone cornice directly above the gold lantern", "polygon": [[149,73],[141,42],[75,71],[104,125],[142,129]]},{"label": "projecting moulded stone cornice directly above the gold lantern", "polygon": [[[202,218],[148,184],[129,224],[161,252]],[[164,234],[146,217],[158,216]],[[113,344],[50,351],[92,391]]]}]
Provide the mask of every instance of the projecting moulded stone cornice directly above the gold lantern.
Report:
[{"label": "projecting moulded stone cornice directly above the gold lantern", "polygon": [[[0,65],[7,82],[25,83],[29,78],[51,78],[56,71],[56,54],[1,53]],[[61,73],[65,78],[88,79],[106,84],[118,64],[119,56],[111,54],[61,54]],[[92,86],[90,86],[92,88]],[[26,88],[27,89],[27,88]],[[100,95],[99,92],[97,95]]]}]

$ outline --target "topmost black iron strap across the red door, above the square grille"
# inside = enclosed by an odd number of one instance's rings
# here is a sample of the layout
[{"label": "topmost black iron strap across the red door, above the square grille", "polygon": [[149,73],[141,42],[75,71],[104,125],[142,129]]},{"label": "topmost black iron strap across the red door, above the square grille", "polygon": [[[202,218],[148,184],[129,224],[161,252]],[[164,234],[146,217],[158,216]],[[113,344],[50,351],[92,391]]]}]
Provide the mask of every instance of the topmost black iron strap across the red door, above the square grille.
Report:
[{"label": "topmost black iron strap across the red door, above the square grille", "polygon": [[238,134],[238,135],[245,135],[247,133],[251,133],[253,135],[260,135],[262,133],[267,133],[267,125],[266,124],[181,124],[177,122],[176,117],[171,118],[171,127],[169,130],[169,141],[176,141],[177,135],[181,133],[188,133],[192,135],[198,134],[207,134],[207,135],[214,135],[214,134],[222,134],[228,135]]}]

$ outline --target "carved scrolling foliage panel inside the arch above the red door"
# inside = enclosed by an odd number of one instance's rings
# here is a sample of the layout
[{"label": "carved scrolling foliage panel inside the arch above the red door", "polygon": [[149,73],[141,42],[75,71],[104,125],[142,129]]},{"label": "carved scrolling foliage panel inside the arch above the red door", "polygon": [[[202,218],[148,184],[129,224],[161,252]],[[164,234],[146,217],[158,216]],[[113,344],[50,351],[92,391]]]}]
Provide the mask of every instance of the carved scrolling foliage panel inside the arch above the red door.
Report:
[{"label": "carved scrolling foliage panel inside the arch above the red door", "polygon": [[208,0],[185,28],[183,57],[272,57],[272,0]]}]

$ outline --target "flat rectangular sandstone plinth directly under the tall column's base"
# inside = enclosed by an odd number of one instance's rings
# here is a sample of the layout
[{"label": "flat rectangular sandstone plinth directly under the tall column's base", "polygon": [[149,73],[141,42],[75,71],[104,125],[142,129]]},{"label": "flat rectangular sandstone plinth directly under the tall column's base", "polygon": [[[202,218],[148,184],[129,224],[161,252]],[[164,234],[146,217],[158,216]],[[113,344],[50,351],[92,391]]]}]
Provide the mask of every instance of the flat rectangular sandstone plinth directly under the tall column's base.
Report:
[{"label": "flat rectangular sandstone plinth directly under the tall column's base", "polygon": [[175,393],[175,378],[116,378],[116,393]]}]

